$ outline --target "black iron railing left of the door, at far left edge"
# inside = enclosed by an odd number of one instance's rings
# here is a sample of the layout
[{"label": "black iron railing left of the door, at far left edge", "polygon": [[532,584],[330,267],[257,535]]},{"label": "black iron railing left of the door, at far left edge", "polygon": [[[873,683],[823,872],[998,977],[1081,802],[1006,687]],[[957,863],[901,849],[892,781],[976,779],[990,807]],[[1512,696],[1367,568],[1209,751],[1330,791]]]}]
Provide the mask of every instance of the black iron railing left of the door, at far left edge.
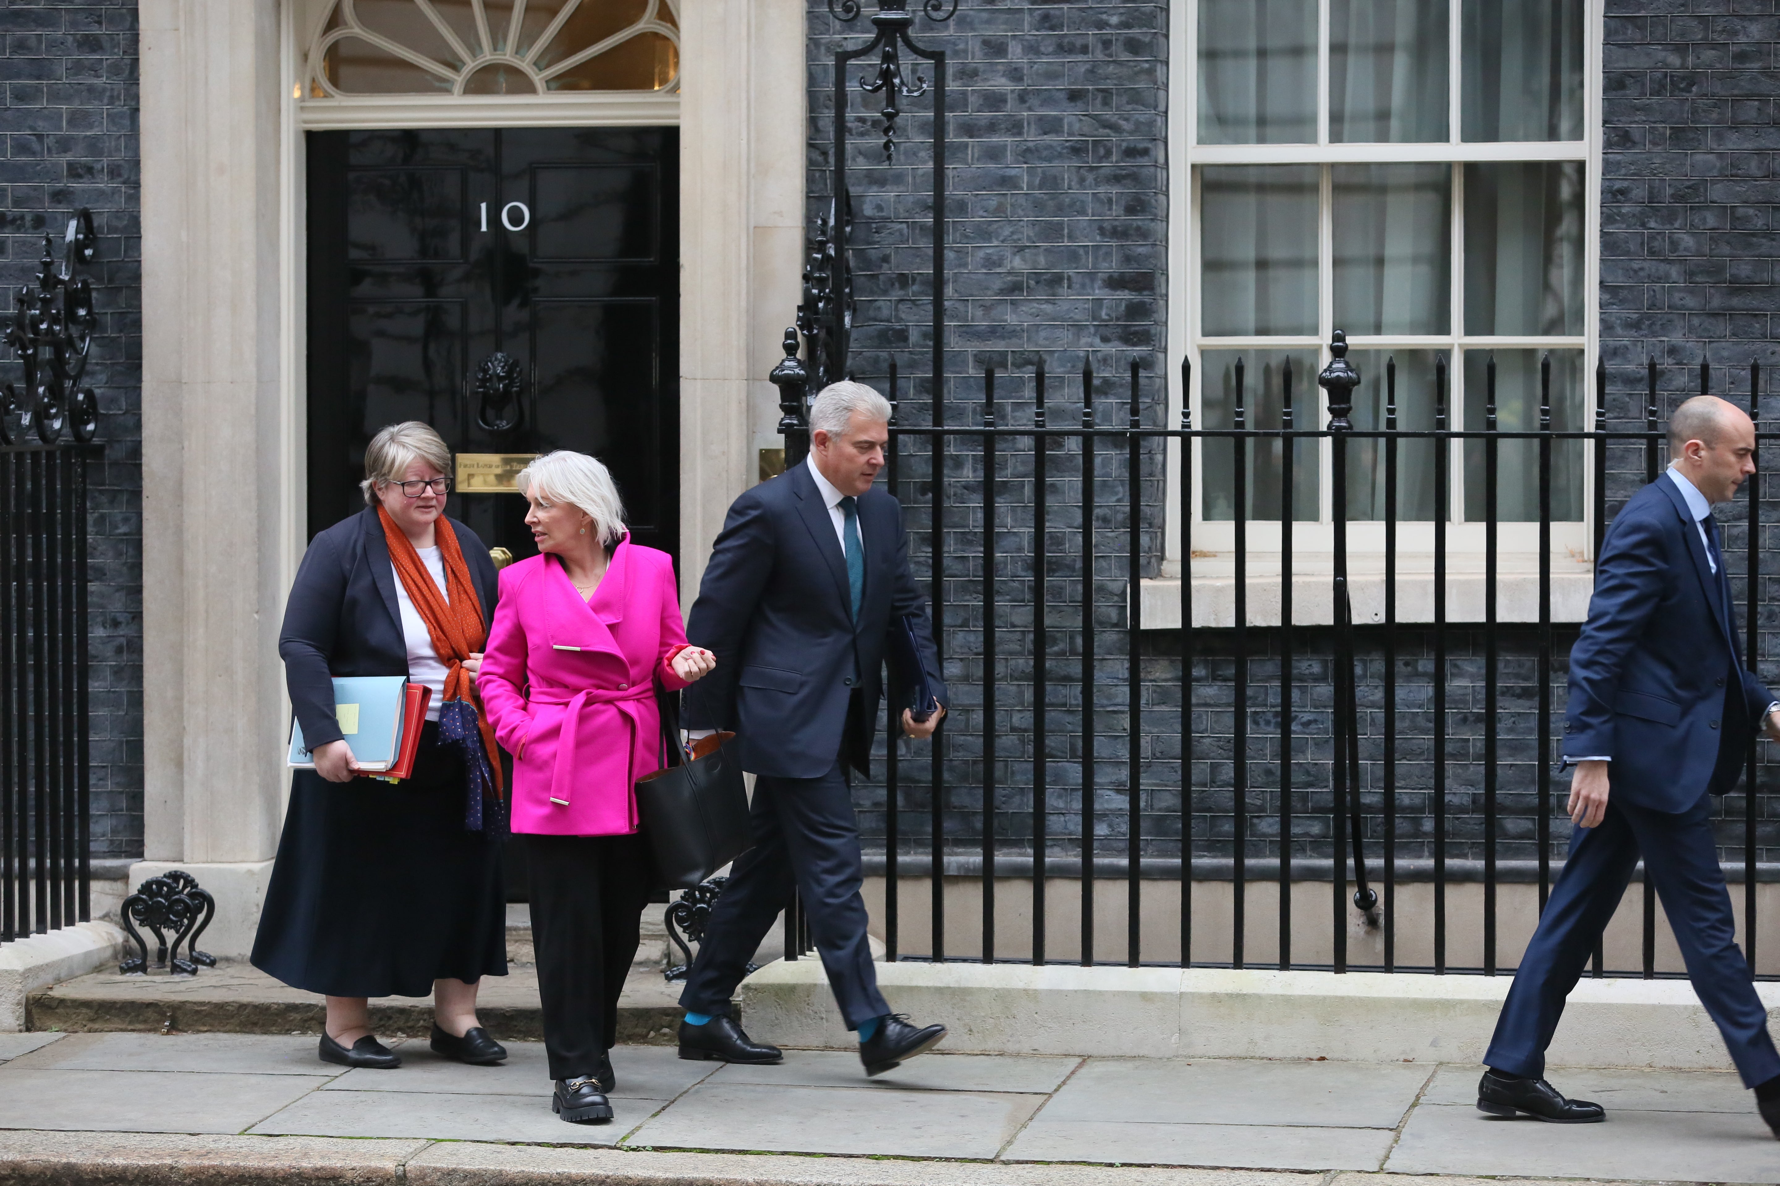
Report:
[{"label": "black iron railing left of the door, at far left edge", "polygon": [[0,446],[0,942],[91,918],[87,466]]}]

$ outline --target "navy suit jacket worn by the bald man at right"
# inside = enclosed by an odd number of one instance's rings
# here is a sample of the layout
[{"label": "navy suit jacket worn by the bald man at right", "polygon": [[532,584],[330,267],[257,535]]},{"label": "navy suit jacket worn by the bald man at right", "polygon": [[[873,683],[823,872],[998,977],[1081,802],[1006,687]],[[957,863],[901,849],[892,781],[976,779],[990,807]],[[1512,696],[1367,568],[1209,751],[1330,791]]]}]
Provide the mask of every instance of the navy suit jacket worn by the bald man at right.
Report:
[{"label": "navy suit jacket worn by the bald man at right", "polygon": [[1625,503],[1595,562],[1570,649],[1565,754],[1611,757],[1613,795],[1650,811],[1723,795],[1743,763],[1714,781],[1719,743],[1727,731],[1746,738],[1773,702],[1741,654],[1730,581],[1712,574],[1687,500],[1664,475]]}]

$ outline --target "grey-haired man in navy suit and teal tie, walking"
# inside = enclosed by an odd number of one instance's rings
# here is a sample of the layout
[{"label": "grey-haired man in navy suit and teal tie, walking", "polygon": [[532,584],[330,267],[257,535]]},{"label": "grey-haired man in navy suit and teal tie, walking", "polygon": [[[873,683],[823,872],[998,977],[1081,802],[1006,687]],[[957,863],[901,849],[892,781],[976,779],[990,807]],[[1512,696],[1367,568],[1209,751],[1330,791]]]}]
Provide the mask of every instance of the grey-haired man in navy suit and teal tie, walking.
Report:
[{"label": "grey-haired man in navy suit and teal tie, walking", "polygon": [[[860,832],[847,768],[869,773],[892,631],[908,617],[933,701],[902,711],[902,733],[933,736],[945,715],[927,603],[908,567],[902,509],[872,480],[890,443],[890,404],[858,382],[810,404],[806,464],[749,489],[730,507],[687,619],[687,638],[717,656],[685,695],[689,731],[732,729],[755,773],[755,846],[712,910],[680,1005],[680,1058],[780,1062],[730,1017],[792,887],[810,919],[828,983],[874,1076],[933,1049],[945,1026],[917,1028],[878,992],[865,934]],[[890,651],[899,654],[897,649]]]}]

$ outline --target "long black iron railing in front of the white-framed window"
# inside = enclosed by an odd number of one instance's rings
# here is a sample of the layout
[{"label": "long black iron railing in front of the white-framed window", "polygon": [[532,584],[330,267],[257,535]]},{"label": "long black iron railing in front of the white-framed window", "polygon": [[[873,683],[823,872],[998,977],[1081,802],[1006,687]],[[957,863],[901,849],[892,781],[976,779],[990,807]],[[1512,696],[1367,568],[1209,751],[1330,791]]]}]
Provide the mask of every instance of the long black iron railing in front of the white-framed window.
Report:
[{"label": "long black iron railing in front of the white-framed window", "polygon": [[[789,340],[789,341],[794,341]],[[1346,345],[1331,345],[1333,363],[1319,382],[1328,391],[1324,429],[1296,427],[1290,382],[1278,425],[1248,421],[1242,365],[1235,372],[1234,427],[1196,429],[1182,411],[1178,425],[1155,423],[1162,400],[1157,379],[1129,366],[1116,386],[1125,389],[1114,423],[1105,418],[1107,384],[1084,368],[1079,389],[1057,400],[1047,389],[1045,370],[1022,375],[1029,395],[1022,402],[997,395],[997,373],[983,375],[975,423],[906,423],[892,429],[890,489],[904,503],[911,555],[927,583],[931,612],[945,653],[952,715],[940,731],[938,749],[890,745],[883,754],[883,784],[856,788],[870,868],[883,875],[874,903],[890,958],[981,962],[1107,962],[1104,916],[1123,923],[1121,958],[1130,967],[1162,966],[1267,966],[1324,967],[1333,971],[1435,971],[1495,974],[1513,967],[1501,935],[1504,885],[1536,885],[1536,909],[1545,907],[1552,878],[1561,873],[1563,786],[1554,779],[1563,736],[1563,665],[1574,615],[1554,622],[1552,525],[1556,487],[1588,489],[1588,512],[1566,501],[1561,519],[1591,526],[1598,551],[1609,523],[1609,478],[1623,500],[1639,480],[1655,480],[1663,462],[1659,425],[1659,368],[1650,363],[1641,395],[1643,425],[1607,429],[1607,372],[1597,366],[1593,398],[1565,397],[1586,407],[1586,429],[1554,429],[1552,366],[1540,372],[1536,429],[1502,429],[1495,407],[1493,361],[1481,372],[1485,414],[1481,429],[1449,425],[1447,372],[1433,372],[1433,427],[1401,429],[1397,375],[1390,363],[1367,382],[1387,388],[1380,427],[1355,429],[1349,420]],[[780,373],[790,409],[801,407],[796,359]],[[1739,372],[1723,393],[1759,416],[1760,368]],[[860,379],[867,379],[860,375]],[[1000,377],[1006,388],[1006,375]],[[897,375],[879,381],[895,400]],[[1191,370],[1180,365],[1178,391],[1191,391]],[[1072,379],[1072,388],[1075,382]],[[1700,366],[1698,389],[1711,389],[1711,370]],[[1146,398],[1146,395],[1150,398]],[[1679,393],[1686,395],[1686,393]],[[1059,402],[1063,407],[1059,407]],[[1024,407],[1022,407],[1024,404]],[[1096,407],[1098,405],[1098,407]],[[1180,405],[1185,409],[1187,400]],[[954,416],[958,402],[952,402]],[[796,418],[796,416],[792,416]],[[1315,416],[1308,416],[1315,421]],[[1015,423],[1009,423],[1015,421]],[[1620,421],[1623,425],[1623,420]],[[1323,446],[1323,441],[1330,441]],[[1780,432],[1759,432],[1760,443]],[[1399,621],[1403,569],[1403,452],[1433,441],[1433,613]],[[1278,624],[1258,624],[1250,606],[1257,557],[1250,549],[1248,505],[1251,477],[1244,443],[1280,443],[1280,551],[1269,555],[1266,580],[1278,581]],[[1315,580],[1328,581],[1331,612],[1315,624],[1294,619],[1294,569],[1307,558],[1294,541],[1296,443],[1328,448],[1333,557],[1319,558]],[[1458,443],[1458,445],[1454,445]],[[1178,581],[1182,629],[1146,631],[1141,585],[1161,567],[1164,521],[1178,525],[1184,576],[1196,555],[1194,491],[1203,484],[1203,457],[1228,450],[1228,482],[1237,514],[1230,523],[1234,551],[1234,613],[1216,628],[1193,628],[1194,581]],[[1477,457],[1481,503],[1467,496],[1468,521],[1481,512],[1483,555],[1467,557],[1481,578],[1481,615],[1454,621],[1449,592],[1458,555],[1447,521],[1452,517],[1451,457]],[[1536,489],[1504,491],[1504,450],[1524,450]],[[1355,622],[1347,530],[1349,485],[1355,457],[1365,453],[1363,480],[1381,489],[1383,605],[1380,621]],[[1175,475],[1161,477],[1169,453]],[[1609,469],[1609,455],[1613,468]],[[1468,462],[1467,462],[1468,464]],[[1586,466],[1586,484],[1566,468]],[[1221,480],[1221,478],[1219,478]],[[1157,496],[1157,491],[1164,491]],[[1146,493],[1148,491],[1148,493]],[[1502,507],[1522,507],[1529,535],[1536,528],[1536,613],[1501,621]],[[1744,521],[1743,557],[1732,558],[1748,661],[1760,665],[1762,500],[1759,477],[1744,485],[1736,516]],[[1173,503],[1171,507],[1168,503]],[[1536,521],[1525,516],[1536,507]],[[1171,514],[1169,514],[1171,512]],[[1769,507],[1769,519],[1775,509]],[[1367,516],[1372,517],[1372,516]],[[1376,521],[1376,519],[1374,519]],[[1426,525],[1426,519],[1422,519]],[[1303,526],[1303,523],[1299,523]],[[1369,528],[1371,530],[1371,528]],[[1426,526],[1417,528],[1426,530]],[[1577,526],[1574,532],[1581,532]],[[1727,546],[1727,555],[1736,557]],[[1588,557],[1591,560],[1591,555]],[[1741,562],[1739,562],[1741,560]],[[1572,558],[1565,564],[1574,571]],[[1737,573],[1736,569],[1743,571]],[[1582,569],[1586,573],[1586,567]],[[1308,615],[1305,615],[1308,617]],[[1408,672],[1410,653],[1424,656]],[[1294,661],[1328,663],[1326,677],[1305,676]],[[1454,688],[1458,665],[1472,672],[1463,702]],[[1481,672],[1477,670],[1481,669]],[[1525,670],[1531,670],[1531,677]],[[1769,670],[1766,676],[1773,677]],[[1299,683],[1294,683],[1299,681]],[[1315,686],[1305,686],[1315,685]],[[1531,685],[1531,686],[1529,686]],[[1266,692],[1280,697],[1255,704]],[[1326,724],[1305,725],[1294,704],[1324,697],[1317,711]],[[1228,709],[1228,725],[1212,718]],[[1527,729],[1525,717],[1533,715]],[[1415,717],[1413,725],[1404,717]],[[1504,715],[1520,724],[1504,727]],[[1454,756],[1463,747],[1463,756]],[[1508,750],[1508,752],[1504,752]],[[1307,752],[1307,757],[1294,754]],[[1454,784],[1465,768],[1467,784]],[[1406,772],[1415,786],[1404,784]],[[1746,754],[1744,788],[1757,786],[1757,752]],[[1404,797],[1413,795],[1415,804]],[[1727,875],[1741,878],[1743,942],[1755,966],[1757,887],[1773,880],[1771,859],[1762,861],[1768,837],[1764,795],[1746,789],[1727,795],[1719,836]],[[1059,825],[1063,825],[1059,829]],[[1554,850],[1554,843],[1558,848]],[[1454,853],[1454,846],[1461,846]],[[1517,853],[1502,859],[1504,846]],[[1079,918],[1059,942],[1056,902],[1059,880],[1079,898]],[[1219,884],[1221,882],[1221,884]],[[1253,889],[1269,887],[1264,909],[1276,912],[1266,930],[1273,950],[1257,962],[1257,909]],[[1305,909],[1305,885],[1326,882],[1326,912],[1317,921]],[[1207,905],[1194,893],[1209,884],[1226,896],[1228,914],[1216,934],[1203,934]],[[1474,889],[1481,884],[1481,896]],[[1634,882],[1636,885],[1638,882]],[[1406,885],[1431,887],[1413,910]],[[1296,889],[1294,889],[1296,887]],[[1465,887],[1463,903],[1452,887]],[[1013,916],[999,909],[997,894],[1018,891]],[[1096,903],[1114,893],[1118,903]],[[981,921],[968,946],[949,941],[958,925],[949,896],[979,898]],[[913,896],[913,900],[911,900]],[[1595,974],[1655,976],[1657,907],[1652,887],[1641,889],[1641,958],[1636,967],[1609,969],[1597,950]],[[1296,898],[1296,902],[1294,902]],[[1632,898],[1636,909],[1636,898]],[[1111,910],[1098,909],[1112,907]],[[908,942],[910,910],[926,916],[918,942]],[[1145,919],[1178,914],[1178,939],[1159,942]],[[1121,918],[1118,918],[1121,916]],[[1024,934],[1009,935],[1009,918]],[[1515,926],[1529,930],[1527,918]],[[1413,921],[1410,921],[1413,919]],[[1477,962],[1449,958],[1449,932],[1467,928],[1467,951]],[[1202,934],[1194,934],[1200,926]],[[1406,934],[1415,926],[1417,934]],[[1477,939],[1481,932],[1481,939]],[[1351,958],[1353,934],[1369,935],[1365,960]],[[1294,942],[1296,941],[1296,942]],[[1426,958],[1401,960],[1412,942]],[[1314,946],[1319,958],[1298,955]],[[1073,955],[1057,955],[1073,948]],[[787,923],[787,955],[808,950],[796,912]]]}]

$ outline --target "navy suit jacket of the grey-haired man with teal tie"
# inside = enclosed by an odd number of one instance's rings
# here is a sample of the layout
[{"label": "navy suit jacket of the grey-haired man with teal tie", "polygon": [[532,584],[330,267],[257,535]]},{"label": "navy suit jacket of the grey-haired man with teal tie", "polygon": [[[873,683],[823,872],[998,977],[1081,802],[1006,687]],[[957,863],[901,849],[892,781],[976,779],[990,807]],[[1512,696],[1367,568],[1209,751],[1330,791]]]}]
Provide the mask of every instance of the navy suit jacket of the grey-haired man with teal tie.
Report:
[{"label": "navy suit jacket of the grey-haired man with teal tie", "polygon": [[[922,665],[945,702],[927,599],[908,569],[902,509],[878,487],[856,507],[865,548],[858,622],[847,558],[806,464],[737,498],[712,544],[685,637],[712,651],[717,669],[685,690],[685,724],[733,729],[744,770],[783,779],[828,773],[858,681],[865,720],[849,759],[869,773],[885,647],[904,613],[917,619]],[[901,718],[901,706],[892,717]]]}]

